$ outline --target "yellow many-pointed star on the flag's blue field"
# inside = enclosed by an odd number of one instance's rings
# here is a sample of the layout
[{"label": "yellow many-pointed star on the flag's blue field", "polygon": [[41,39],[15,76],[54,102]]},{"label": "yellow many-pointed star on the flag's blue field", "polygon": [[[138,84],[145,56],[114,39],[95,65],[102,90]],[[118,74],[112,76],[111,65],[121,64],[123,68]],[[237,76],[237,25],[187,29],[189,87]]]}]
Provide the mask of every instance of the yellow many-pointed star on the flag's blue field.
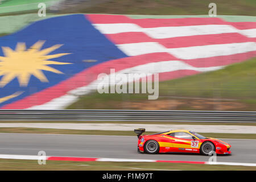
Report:
[{"label": "yellow many-pointed star on the flag's blue field", "polygon": [[47,77],[42,70],[58,74],[64,74],[55,68],[49,67],[48,64],[72,64],[51,61],[56,57],[68,55],[70,53],[57,53],[48,55],[48,53],[60,48],[61,44],[42,49],[44,41],[39,40],[30,48],[26,48],[25,43],[17,43],[15,50],[10,47],[2,47],[4,57],[0,56],[0,76],[3,76],[0,81],[0,86],[3,87],[12,81],[15,77],[18,78],[20,86],[27,86],[30,76],[34,75],[42,82],[48,82]]}]

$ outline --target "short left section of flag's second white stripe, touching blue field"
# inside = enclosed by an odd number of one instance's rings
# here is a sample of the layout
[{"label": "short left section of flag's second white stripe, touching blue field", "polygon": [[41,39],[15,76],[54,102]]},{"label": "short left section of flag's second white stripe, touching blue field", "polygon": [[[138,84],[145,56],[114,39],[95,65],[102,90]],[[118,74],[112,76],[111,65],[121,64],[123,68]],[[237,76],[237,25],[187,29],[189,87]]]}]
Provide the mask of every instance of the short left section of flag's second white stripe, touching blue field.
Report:
[{"label": "short left section of flag's second white stripe, touching blue field", "polygon": [[138,56],[152,52],[168,52],[168,49],[157,42],[118,44],[117,47],[129,56]]}]

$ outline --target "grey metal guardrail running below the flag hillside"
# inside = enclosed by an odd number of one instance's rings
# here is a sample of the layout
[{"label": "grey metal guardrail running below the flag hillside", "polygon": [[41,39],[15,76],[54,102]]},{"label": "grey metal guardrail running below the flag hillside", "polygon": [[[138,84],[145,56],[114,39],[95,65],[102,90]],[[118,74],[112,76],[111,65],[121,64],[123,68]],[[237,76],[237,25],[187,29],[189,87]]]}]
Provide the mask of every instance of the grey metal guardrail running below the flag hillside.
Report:
[{"label": "grey metal guardrail running below the flag hillside", "polygon": [[256,122],[256,112],[189,110],[0,110],[0,121]]}]

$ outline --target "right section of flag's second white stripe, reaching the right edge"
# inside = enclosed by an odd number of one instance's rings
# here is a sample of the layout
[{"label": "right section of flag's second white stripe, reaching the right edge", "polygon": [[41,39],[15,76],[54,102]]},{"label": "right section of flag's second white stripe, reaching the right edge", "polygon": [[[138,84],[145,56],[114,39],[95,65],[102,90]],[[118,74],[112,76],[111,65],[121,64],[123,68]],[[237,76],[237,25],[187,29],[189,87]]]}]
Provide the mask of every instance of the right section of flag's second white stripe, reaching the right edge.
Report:
[{"label": "right section of flag's second white stripe, reaching the right edge", "polygon": [[169,53],[179,59],[199,59],[214,56],[227,56],[250,51],[256,51],[256,43],[245,42],[168,49]]}]

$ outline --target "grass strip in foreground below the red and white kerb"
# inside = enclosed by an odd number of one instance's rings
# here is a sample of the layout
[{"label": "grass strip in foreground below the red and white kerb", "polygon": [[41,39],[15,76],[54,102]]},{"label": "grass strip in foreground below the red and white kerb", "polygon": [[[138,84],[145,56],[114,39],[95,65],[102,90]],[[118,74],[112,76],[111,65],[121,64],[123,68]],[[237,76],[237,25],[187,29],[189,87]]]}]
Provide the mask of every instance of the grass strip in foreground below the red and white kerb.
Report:
[{"label": "grass strip in foreground below the red and white kerb", "polygon": [[39,165],[37,160],[0,159],[1,171],[44,171],[44,170],[86,170],[86,171],[148,171],[148,170],[246,170],[255,171],[256,167],[224,166],[206,164],[172,164],[172,163],[145,163],[145,162],[65,162],[47,161],[46,165]]}]

